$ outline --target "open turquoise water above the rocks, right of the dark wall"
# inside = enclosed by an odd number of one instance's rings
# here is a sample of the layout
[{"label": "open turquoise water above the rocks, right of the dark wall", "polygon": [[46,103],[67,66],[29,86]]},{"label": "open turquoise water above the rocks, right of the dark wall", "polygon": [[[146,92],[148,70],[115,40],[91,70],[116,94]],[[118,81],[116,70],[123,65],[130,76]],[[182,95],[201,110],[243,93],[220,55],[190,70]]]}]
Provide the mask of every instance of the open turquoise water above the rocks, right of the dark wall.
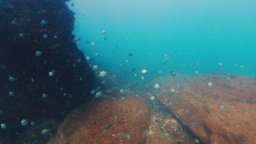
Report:
[{"label": "open turquoise water above the rocks, right of the dark wall", "polygon": [[256,76],[256,1],[73,0],[67,5],[76,13],[79,49],[93,58],[91,65],[111,75],[139,77],[146,69],[145,79],[168,70]]}]

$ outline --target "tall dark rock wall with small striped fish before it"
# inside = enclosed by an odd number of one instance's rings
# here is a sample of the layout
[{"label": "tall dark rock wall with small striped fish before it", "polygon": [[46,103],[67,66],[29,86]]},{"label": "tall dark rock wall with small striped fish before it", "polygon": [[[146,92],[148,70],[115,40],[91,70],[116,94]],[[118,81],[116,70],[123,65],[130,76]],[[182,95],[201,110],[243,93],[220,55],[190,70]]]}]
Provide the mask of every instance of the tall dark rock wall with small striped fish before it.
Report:
[{"label": "tall dark rock wall with small striped fish before it", "polygon": [[[75,18],[65,2],[0,1],[0,124],[7,126],[0,128],[2,138],[26,130],[31,121],[65,115],[89,98],[94,76],[73,42]],[[28,119],[23,127],[22,119]]]}]

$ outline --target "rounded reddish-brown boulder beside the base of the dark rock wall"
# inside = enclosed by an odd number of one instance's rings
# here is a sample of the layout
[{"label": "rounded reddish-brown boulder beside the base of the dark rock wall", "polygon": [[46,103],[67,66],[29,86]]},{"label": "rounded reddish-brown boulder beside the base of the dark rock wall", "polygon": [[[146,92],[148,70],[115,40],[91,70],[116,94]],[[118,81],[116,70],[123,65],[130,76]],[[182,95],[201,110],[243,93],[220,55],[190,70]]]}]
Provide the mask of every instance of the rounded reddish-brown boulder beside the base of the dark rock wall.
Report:
[{"label": "rounded reddish-brown boulder beside the base of the dark rock wall", "polygon": [[64,119],[57,136],[48,144],[145,143],[150,117],[148,100],[130,94],[121,100],[123,96],[120,92],[110,92],[103,95],[105,98],[79,107]]}]

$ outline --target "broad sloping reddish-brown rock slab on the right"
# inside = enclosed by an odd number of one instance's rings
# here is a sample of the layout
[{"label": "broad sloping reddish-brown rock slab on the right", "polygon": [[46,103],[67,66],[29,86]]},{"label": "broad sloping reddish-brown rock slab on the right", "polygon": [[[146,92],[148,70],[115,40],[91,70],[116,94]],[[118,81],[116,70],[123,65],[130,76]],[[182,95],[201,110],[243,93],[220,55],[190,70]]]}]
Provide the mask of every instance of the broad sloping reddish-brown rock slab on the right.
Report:
[{"label": "broad sloping reddish-brown rock slab on the right", "polygon": [[[159,89],[155,83],[161,85]],[[201,142],[256,142],[256,80],[252,77],[178,74],[156,79],[148,88]]]}]

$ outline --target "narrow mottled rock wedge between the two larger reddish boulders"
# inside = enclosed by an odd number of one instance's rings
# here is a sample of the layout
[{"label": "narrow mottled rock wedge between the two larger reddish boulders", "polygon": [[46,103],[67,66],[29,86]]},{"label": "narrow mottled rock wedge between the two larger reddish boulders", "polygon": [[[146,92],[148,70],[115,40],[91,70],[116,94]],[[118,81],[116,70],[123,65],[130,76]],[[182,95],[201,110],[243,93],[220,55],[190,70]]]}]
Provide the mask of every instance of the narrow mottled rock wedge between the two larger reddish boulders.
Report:
[{"label": "narrow mottled rock wedge between the two larger reddish boulders", "polygon": [[[150,95],[149,95],[150,96]],[[147,144],[192,144],[193,138],[169,113],[169,110],[158,100],[151,103],[150,126],[147,133]],[[169,138],[163,133],[168,133]]]}]

